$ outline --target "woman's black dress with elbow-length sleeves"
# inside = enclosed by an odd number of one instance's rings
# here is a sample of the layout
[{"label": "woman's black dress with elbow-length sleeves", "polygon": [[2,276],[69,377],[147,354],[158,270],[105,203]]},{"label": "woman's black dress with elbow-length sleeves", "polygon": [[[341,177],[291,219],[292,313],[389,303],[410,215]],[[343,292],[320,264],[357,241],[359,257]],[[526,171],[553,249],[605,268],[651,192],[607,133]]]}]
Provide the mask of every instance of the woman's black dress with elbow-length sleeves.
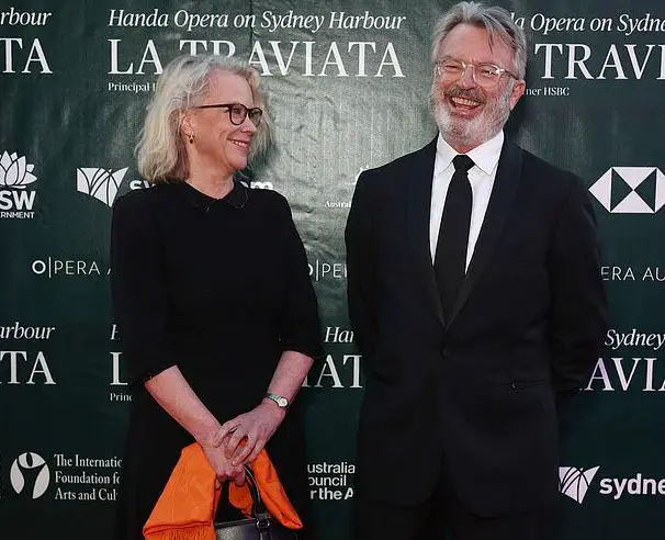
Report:
[{"label": "woman's black dress with elbow-length sleeves", "polygon": [[[178,365],[224,423],[260,402],[284,350],[320,353],[316,297],[286,200],[236,182],[215,200],[184,182],[117,200],[112,293],[133,403],[119,497],[119,540],[142,528],[180,455],[193,442],[143,387]],[[306,519],[298,402],[267,446]]]}]

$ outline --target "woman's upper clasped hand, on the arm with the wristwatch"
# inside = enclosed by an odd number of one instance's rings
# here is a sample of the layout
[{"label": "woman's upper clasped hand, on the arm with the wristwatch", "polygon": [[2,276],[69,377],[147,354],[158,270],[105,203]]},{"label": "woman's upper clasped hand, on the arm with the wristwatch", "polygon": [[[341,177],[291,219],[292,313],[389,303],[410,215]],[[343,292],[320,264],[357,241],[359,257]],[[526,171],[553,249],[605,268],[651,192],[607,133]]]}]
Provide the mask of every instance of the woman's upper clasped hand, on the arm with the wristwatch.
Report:
[{"label": "woman's upper clasped hand, on the arm with the wristwatch", "polygon": [[263,402],[249,413],[225,423],[213,445],[225,450],[234,466],[253,461],[280,427],[286,412],[272,402]]}]

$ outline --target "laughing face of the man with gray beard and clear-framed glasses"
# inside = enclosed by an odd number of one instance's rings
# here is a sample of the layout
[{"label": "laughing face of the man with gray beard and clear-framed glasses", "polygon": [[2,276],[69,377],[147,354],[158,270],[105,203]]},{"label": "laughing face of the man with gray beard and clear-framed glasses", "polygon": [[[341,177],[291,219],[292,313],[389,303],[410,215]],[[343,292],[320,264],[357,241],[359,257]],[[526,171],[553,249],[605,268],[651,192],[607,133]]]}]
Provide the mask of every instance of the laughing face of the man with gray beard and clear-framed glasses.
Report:
[{"label": "laughing face of the man with gray beard and clear-framed glasses", "polygon": [[[525,81],[505,74],[495,86],[478,85],[477,65],[494,64],[515,71],[512,50],[499,38],[489,46],[485,29],[459,24],[439,47],[438,60],[454,59],[467,67],[461,77],[439,70],[431,87],[433,113],[443,139],[460,153],[466,153],[494,137],[506,124],[522,93]],[[475,77],[474,77],[475,75]]]}]

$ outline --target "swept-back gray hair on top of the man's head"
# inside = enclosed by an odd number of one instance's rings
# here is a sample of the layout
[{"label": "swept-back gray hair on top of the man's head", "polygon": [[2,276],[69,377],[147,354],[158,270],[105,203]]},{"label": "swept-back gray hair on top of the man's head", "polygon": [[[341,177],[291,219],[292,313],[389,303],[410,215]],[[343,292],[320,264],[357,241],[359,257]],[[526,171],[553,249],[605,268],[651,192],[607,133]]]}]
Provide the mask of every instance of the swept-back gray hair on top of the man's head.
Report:
[{"label": "swept-back gray hair on top of the man's head", "polygon": [[431,59],[435,64],[439,59],[441,42],[458,24],[470,24],[485,29],[489,46],[493,46],[495,36],[512,49],[512,69],[520,79],[527,74],[527,37],[510,13],[497,5],[484,5],[481,2],[460,2],[450,8],[435,25],[432,38]]}]

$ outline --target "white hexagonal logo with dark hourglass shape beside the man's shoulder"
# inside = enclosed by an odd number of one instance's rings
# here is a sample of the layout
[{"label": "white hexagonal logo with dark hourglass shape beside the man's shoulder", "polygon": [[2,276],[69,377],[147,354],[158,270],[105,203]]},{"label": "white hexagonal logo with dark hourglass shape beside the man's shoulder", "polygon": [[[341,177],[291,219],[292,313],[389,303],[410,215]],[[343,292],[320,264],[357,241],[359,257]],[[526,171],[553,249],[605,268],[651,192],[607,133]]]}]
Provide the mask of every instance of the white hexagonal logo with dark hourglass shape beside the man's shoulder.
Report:
[{"label": "white hexagonal logo with dark hourglass shape beside the man's shoulder", "polygon": [[611,167],[589,191],[612,214],[655,214],[665,205],[665,175],[656,167]]}]

